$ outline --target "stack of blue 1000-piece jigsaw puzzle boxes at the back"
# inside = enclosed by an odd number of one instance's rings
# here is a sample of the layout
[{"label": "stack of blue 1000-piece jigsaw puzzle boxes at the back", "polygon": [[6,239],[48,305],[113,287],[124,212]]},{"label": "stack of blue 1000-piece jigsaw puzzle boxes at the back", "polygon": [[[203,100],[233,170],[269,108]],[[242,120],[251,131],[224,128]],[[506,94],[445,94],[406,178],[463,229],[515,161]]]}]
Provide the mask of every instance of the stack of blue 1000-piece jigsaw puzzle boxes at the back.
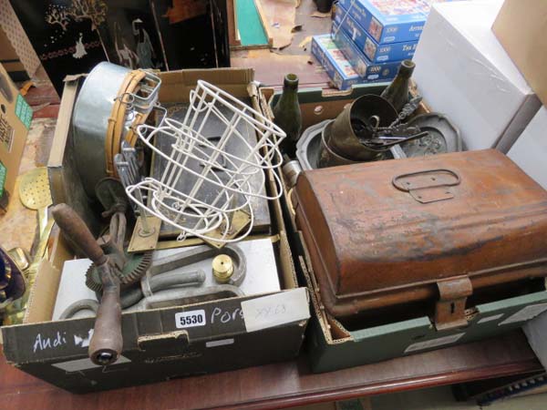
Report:
[{"label": "stack of blue 1000-piece jigsaw puzzle boxes at the back", "polygon": [[319,61],[325,59],[331,39],[330,46],[346,57],[356,78],[345,78],[337,70],[331,74],[327,69],[335,86],[343,86],[340,89],[389,81],[396,76],[400,62],[414,56],[431,4],[443,1],[451,0],[339,0],[332,33],[315,36],[317,54],[314,46],[312,53]]}]

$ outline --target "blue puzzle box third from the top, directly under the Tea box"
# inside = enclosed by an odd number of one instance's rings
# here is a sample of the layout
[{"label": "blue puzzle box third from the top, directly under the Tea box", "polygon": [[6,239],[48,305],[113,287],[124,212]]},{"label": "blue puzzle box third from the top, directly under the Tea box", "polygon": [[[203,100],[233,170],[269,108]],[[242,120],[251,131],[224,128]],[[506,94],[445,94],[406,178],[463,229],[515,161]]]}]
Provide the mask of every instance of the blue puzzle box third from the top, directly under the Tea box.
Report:
[{"label": "blue puzzle box third from the top, directly under the Tea box", "polygon": [[356,44],[346,36],[344,30],[338,30],[335,35],[335,45],[344,53],[347,61],[354,67],[359,77],[366,82],[390,81],[397,76],[400,61],[387,63],[371,63],[356,47]]}]

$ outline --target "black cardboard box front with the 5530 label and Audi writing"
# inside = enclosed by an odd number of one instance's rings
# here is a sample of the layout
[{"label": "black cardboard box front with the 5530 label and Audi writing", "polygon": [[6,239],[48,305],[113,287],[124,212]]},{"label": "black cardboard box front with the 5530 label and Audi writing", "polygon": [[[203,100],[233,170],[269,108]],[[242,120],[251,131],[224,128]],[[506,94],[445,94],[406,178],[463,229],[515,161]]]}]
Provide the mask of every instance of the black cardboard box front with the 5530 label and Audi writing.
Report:
[{"label": "black cardboard box front with the 5530 label and Audi writing", "polygon": [[[123,313],[123,354],[136,351],[142,356],[155,356],[162,346],[169,346],[169,355],[173,355],[175,351],[182,352],[183,345],[290,323],[304,326],[309,317],[305,288]],[[5,326],[2,328],[5,357],[17,364],[85,357],[94,322],[95,318],[89,317]]]}]

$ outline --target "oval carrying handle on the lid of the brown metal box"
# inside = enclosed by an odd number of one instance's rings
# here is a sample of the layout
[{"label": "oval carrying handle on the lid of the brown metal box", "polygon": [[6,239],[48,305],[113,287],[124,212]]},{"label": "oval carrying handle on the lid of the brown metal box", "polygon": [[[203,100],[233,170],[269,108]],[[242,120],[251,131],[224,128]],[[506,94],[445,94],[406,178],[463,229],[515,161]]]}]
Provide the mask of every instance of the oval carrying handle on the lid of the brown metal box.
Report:
[{"label": "oval carrying handle on the lid of the brown metal box", "polygon": [[454,198],[451,187],[459,185],[460,181],[453,170],[428,169],[397,175],[391,182],[397,190],[408,192],[418,202],[428,203]]}]

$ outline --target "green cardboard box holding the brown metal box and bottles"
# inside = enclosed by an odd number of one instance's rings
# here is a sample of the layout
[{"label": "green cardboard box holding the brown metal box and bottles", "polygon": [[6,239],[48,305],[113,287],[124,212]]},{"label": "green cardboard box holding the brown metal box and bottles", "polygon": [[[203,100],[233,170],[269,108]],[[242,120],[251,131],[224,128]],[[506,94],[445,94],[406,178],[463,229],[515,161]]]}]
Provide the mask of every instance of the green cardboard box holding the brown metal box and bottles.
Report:
[{"label": "green cardboard box holding the brown metal box and bottles", "polygon": [[[325,119],[335,118],[355,98],[366,94],[379,95],[387,84],[365,84],[353,87],[343,96],[324,95],[321,89],[308,88],[298,91],[302,110],[303,129]],[[260,89],[263,112],[270,113],[279,93],[271,88]],[[315,282],[301,232],[294,223],[294,210],[287,201],[286,186],[282,198],[287,228],[293,240],[293,252],[299,279],[310,289],[313,314],[306,333],[307,351],[314,372],[330,372],[337,369],[381,362],[407,354],[422,353],[459,343],[470,343],[511,332],[540,313],[547,311],[547,290],[544,281],[528,294],[500,297],[493,302],[482,302],[466,310],[469,325],[447,331],[437,331],[428,316],[418,316],[395,323],[374,326],[363,325],[348,329],[334,317],[325,313]],[[365,324],[365,323],[364,323]]]}]

